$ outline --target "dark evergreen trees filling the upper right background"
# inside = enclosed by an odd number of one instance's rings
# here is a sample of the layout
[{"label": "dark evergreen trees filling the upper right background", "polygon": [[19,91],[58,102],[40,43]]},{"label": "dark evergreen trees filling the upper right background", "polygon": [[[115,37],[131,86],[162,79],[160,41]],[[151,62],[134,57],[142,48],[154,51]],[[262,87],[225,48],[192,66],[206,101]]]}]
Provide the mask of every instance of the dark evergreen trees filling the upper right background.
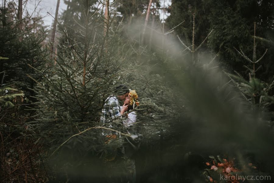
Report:
[{"label": "dark evergreen trees filling the upper right background", "polygon": [[[197,42],[202,42],[205,39],[205,31],[214,29],[207,43],[201,47],[201,51],[216,53],[219,56],[220,66],[224,67],[226,71],[233,72],[237,68],[237,72],[246,75],[247,72],[242,67],[245,62],[237,56],[233,47],[241,45],[240,48],[244,52],[250,53],[253,51],[251,44],[253,22],[258,22],[257,32],[260,37],[272,40],[273,29],[271,27],[273,27],[274,17],[270,7],[273,7],[273,5],[273,2],[256,0],[202,2],[172,0],[167,24],[169,27],[173,27],[185,20],[183,26],[177,29],[177,34],[182,38],[185,29],[186,33],[191,35],[191,24],[193,23],[191,16],[192,13],[195,13],[197,17],[195,39]],[[182,41],[185,42],[185,40]],[[245,45],[242,43],[245,43]],[[257,44],[257,52],[261,55],[265,52],[264,48],[269,48],[269,54],[265,56],[267,62],[262,66],[262,70],[258,72],[262,74],[262,80],[269,81],[273,76],[273,72],[269,70],[273,68],[273,62],[271,62],[273,46],[267,41],[257,41]]]}]

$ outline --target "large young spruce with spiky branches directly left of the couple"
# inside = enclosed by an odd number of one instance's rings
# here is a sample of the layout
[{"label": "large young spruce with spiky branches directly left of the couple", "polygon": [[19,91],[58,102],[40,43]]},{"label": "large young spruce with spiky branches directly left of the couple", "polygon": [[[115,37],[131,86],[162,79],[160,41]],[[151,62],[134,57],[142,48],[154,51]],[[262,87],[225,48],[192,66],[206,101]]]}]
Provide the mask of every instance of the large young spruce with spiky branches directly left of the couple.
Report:
[{"label": "large young spruce with spiky branches directly left of the couple", "polygon": [[[102,163],[98,154],[104,158],[107,148],[100,128],[107,127],[100,124],[102,107],[118,83],[126,84],[130,47],[121,41],[119,29],[110,26],[107,34],[101,34],[103,20],[91,3],[87,0],[81,4],[84,21],[78,22],[73,35],[68,33],[71,25],[59,24],[62,40],[66,41],[60,45],[52,73],[46,75],[33,68],[43,80],[34,89],[38,102],[33,121],[28,123],[29,130],[35,132],[39,143],[49,147],[47,157],[60,158],[57,170],[78,172],[83,162],[90,168],[96,167],[94,157]],[[113,123],[121,124],[121,120]],[[120,126],[114,130],[121,131]]]}]

